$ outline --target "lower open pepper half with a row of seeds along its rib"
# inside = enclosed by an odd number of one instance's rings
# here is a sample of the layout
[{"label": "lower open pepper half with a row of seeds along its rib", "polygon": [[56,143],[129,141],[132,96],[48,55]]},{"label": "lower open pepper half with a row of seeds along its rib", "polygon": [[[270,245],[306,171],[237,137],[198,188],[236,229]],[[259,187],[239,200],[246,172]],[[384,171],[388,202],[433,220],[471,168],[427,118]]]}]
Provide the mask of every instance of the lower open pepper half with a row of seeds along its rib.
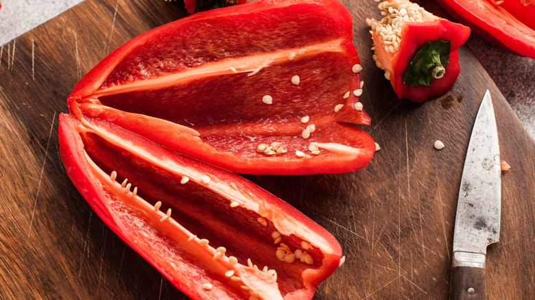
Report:
[{"label": "lower open pepper half with a row of seeds along its rib", "polygon": [[[99,118],[61,114],[59,135],[67,174],[93,210],[193,299],[311,299],[340,262],[331,234],[239,175]],[[296,259],[298,249],[310,257]]]}]

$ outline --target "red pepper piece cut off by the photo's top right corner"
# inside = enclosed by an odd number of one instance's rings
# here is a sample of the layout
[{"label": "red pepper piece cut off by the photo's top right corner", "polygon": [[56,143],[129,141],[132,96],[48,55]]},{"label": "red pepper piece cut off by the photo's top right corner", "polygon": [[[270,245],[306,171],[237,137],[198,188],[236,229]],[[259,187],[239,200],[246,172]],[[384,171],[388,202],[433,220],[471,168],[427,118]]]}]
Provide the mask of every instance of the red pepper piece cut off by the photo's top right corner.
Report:
[{"label": "red pepper piece cut off by the photo's top right corner", "polygon": [[535,58],[535,1],[438,0],[455,19],[495,45]]}]

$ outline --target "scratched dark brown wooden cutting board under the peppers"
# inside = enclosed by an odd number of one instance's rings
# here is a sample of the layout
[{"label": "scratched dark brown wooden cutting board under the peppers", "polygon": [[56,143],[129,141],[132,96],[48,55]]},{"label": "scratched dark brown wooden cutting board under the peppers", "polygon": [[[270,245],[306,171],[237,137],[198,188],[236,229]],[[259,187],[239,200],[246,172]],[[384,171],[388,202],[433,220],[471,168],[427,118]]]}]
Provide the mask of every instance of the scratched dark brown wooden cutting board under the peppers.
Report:
[{"label": "scratched dark brown wooden cutting board under the peppers", "polygon": [[[346,264],[316,299],[446,299],[455,208],[479,102],[495,103],[504,172],[500,242],[488,248],[489,299],[535,297],[535,145],[471,51],[453,89],[396,99],[371,60],[371,0],[344,0],[364,71],[363,127],[381,151],[341,175],[248,176],[340,241]],[[433,1],[429,10],[444,16]],[[0,299],[187,299],[108,229],[60,162],[58,114],[113,49],[185,16],[179,3],[88,0],[0,49]],[[442,140],[446,147],[433,149]]]}]

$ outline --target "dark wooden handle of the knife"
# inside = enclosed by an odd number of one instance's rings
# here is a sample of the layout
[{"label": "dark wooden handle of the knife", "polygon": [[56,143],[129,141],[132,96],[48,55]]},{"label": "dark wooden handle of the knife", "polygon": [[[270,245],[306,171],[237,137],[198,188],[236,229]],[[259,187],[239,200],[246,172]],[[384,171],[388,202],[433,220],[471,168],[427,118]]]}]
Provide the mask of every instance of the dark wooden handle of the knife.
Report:
[{"label": "dark wooden handle of the knife", "polygon": [[451,294],[449,299],[485,299],[485,269],[455,266],[451,273]]}]

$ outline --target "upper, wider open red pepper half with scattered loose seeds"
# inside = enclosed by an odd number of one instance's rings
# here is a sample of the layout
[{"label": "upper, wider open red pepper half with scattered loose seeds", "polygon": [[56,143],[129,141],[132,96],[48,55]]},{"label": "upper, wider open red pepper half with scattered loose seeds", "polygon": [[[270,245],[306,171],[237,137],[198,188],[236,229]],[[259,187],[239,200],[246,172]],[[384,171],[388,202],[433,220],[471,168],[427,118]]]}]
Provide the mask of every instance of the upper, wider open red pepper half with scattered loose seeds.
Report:
[{"label": "upper, wider open red pepper half with scattered loose seeds", "polygon": [[[258,1],[194,14],[108,55],[75,87],[69,108],[238,173],[355,171],[370,162],[375,143],[344,124],[370,123],[355,108],[352,24],[335,0]],[[263,102],[267,95],[272,104]],[[281,153],[257,151],[273,142]]]}]

